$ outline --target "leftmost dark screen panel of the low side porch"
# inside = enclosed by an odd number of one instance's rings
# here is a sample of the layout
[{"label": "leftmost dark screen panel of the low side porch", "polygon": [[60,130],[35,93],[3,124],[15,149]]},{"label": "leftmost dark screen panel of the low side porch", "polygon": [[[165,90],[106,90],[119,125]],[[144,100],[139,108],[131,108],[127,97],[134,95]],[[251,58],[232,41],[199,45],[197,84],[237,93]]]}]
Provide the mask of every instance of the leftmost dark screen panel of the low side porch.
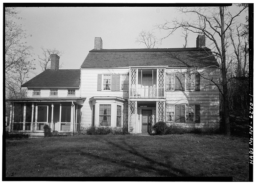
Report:
[{"label": "leftmost dark screen panel of the low side porch", "polygon": [[14,103],[13,130],[23,130],[23,103]]}]

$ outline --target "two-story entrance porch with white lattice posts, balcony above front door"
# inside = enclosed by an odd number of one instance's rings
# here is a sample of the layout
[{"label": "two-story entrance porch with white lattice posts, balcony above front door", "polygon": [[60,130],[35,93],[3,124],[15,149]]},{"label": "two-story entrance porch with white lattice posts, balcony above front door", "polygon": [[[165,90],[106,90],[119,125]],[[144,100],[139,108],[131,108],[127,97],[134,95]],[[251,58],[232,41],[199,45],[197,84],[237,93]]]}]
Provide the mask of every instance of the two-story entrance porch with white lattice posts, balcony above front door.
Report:
[{"label": "two-story entrance porch with white lattice posts, balcony above front door", "polygon": [[166,66],[130,67],[130,133],[150,133],[150,126],[164,121],[165,68]]}]

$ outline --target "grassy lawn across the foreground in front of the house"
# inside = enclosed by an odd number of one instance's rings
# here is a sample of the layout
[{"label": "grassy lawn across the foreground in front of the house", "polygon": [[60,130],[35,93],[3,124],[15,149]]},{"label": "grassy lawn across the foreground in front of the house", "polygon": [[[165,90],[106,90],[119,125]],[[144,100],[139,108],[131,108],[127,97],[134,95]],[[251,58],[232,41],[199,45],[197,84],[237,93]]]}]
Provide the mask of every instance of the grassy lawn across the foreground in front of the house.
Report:
[{"label": "grassy lawn across the foreground in front of the house", "polygon": [[92,135],[6,140],[6,177],[199,176],[248,181],[248,138]]}]

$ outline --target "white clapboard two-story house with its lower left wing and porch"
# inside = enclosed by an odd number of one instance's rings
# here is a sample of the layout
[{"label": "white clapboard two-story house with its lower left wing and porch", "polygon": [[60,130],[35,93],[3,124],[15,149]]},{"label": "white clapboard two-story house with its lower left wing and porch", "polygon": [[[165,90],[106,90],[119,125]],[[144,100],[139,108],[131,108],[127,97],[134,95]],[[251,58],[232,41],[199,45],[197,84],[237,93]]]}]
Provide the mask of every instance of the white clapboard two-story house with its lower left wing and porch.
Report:
[{"label": "white clapboard two-story house with its lower left wing and porch", "polygon": [[[52,56],[56,59],[50,70],[22,85],[28,87],[28,98],[11,101],[10,116],[15,116],[15,105],[23,106],[19,130],[26,131],[25,113],[32,114],[31,132],[43,125],[32,120],[39,114],[55,131],[127,124],[130,133],[143,134],[150,123],[159,121],[187,129],[219,128],[219,91],[210,81],[218,80],[218,62],[205,47],[204,35],[198,35],[195,48],[163,49],[102,49],[102,39],[95,37],[94,49],[80,70],[58,70],[59,57]],[[69,96],[72,91],[75,96]],[[37,92],[40,96],[35,96]],[[51,96],[54,92],[57,96]],[[31,106],[29,112],[25,103]],[[47,117],[46,112],[38,113],[42,109],[48,111]],[[12,117],[12,126],[16,121]]]}]

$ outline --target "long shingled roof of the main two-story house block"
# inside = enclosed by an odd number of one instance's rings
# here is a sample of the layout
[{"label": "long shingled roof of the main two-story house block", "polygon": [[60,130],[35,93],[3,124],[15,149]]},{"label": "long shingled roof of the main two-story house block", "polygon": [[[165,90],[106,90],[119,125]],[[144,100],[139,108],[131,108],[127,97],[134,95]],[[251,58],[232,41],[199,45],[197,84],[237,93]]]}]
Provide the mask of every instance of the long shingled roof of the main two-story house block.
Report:
[{"label": "long shingled roof of the main two-story house block", "polygon": [[209,48],[92,49],[82,68],[168,65],[169,67],[219,66]]}]

